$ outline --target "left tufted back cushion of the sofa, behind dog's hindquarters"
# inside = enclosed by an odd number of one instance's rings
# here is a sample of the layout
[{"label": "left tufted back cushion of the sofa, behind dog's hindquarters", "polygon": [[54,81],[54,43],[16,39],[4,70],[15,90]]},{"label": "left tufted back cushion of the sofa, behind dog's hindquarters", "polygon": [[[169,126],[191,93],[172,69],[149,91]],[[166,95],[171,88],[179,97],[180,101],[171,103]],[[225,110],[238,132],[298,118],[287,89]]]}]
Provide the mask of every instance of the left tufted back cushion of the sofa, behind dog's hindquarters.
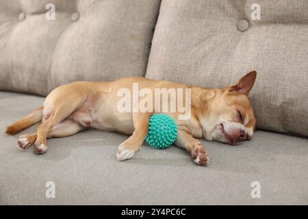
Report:
[{"label": "left tufted back cushion of the sofa, behind dog's hindquarters", "polygon": [[[47,3],[55,20],[47,20]],[[159,0],[0,0],[0,89],[144,76]]]}]

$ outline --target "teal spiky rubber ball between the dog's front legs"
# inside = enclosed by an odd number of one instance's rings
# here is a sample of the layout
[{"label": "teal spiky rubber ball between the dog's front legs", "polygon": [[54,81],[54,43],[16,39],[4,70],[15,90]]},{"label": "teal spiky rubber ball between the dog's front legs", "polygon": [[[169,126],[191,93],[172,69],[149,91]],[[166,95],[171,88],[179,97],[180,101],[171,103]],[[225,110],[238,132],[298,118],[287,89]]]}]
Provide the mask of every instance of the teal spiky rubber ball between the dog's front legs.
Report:
[{"label": "teal spiky rubber ball between the dog's front legs", "polygon": [[177,123],[166,114],[154,114],[150,117],[146,142],[155,149],[166,149],[177,139]]}]

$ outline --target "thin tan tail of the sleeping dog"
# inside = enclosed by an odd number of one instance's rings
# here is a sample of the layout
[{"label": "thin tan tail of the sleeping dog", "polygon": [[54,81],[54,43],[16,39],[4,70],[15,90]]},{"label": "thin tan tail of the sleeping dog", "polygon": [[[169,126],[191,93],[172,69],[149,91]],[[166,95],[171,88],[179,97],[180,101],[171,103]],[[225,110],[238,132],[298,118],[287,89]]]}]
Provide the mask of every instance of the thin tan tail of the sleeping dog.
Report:
[{"label": "thin tan tail of the sleeping dog", "polygon": [[40,120],[42,120],[43,110],[44,106],[38,107],[38,109],[34,110],[34,112],[31,112],[29,115],[25,116],[21,120],[8,126],[5,133],[14,135],[18,132],[23,131],[23,129],[27,129],[31,125],[40,122]]}]

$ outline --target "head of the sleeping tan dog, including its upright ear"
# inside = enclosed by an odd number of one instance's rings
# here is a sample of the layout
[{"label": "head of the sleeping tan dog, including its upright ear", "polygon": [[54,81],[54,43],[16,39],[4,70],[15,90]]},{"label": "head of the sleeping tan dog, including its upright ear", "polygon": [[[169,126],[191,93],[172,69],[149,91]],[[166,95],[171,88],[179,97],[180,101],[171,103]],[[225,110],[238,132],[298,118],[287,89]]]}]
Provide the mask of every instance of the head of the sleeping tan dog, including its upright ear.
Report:
[{"label": "head of the sleeping tan dog, including its upright ear", "polygon": [[248,99],[257,73],[252,71],[235,86],[210,90],[201,115],[203,138],[235,145],[251,140],[255,115]]}]

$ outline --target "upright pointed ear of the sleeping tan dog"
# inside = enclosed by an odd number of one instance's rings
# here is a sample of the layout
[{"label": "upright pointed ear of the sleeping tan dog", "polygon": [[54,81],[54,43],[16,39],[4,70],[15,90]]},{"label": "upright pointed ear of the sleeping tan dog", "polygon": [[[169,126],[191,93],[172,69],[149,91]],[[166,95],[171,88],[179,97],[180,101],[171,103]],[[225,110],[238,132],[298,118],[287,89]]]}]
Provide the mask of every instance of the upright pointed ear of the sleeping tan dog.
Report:
[{"label": "upright pointed ear of the sleeping tan dog", "polygon": [[257,72],[255,70],[251,71],[238,81],[235,86],[229,88],[229,92],[236,92],[241,94],[249,94],[253,84],[255,83],[255,78],[257,77]]}]

